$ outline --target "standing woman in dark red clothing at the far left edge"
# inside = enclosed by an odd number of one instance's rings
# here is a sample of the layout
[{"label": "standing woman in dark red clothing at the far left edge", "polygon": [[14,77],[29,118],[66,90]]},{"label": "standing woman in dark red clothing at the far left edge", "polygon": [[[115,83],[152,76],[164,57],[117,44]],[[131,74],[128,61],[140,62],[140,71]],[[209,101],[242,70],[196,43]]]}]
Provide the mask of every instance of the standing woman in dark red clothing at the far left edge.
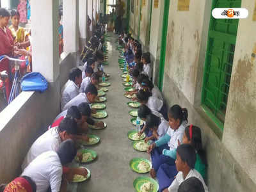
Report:
[{"label": "standing woman in dark red clothing at the far left edge", "polygon": [[[8,56],[12,56],[13,36],[11,30],[7,28],[10,16],[11,15],[8,10],[0,8],[0,55],[6,54]],[[2,72],[3,70],[6,70],[8,76],[10,76],[10,67],[8,60],[3,60],[0,62],[0,72]],[[8,100],[11,91],[10,77],[6,79],[5,87]]]}]

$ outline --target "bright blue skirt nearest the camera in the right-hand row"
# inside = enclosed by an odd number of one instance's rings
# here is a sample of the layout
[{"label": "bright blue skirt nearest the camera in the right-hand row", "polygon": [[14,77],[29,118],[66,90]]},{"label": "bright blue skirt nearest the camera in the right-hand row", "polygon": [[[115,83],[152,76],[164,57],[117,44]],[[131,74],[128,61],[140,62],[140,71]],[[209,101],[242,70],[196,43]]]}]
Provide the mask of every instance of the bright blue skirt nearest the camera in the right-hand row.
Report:
[{"label": "bright blue skirt nearest the camera in the right-hand row", "polygon": [[175,165],[164,163],[159,166],[156,173],[159,184],[159,192],[162,192],[172,184],[177,173],[178,172]]}]

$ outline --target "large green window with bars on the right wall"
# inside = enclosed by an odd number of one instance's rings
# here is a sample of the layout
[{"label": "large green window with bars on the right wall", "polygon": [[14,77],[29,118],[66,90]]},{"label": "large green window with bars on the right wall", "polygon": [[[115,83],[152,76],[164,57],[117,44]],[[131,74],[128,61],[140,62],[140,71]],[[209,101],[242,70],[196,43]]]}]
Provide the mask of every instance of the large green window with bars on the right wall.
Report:
[{"label": "large green window with bars on the right wall", "polygon": [[[241,0],[213,0],[214,8],[240,8]],[[211,16],[205,55],[202,104],[221,129],[225,120],[238,19]]]}]

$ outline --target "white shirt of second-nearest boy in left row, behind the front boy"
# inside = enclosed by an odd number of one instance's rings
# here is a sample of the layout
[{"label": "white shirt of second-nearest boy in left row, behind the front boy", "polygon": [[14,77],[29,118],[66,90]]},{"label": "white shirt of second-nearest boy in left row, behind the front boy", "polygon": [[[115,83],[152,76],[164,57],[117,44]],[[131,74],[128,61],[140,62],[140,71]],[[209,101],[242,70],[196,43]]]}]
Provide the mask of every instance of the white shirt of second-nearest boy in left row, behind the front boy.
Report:
[{"label": "white shirt of second-nearest boy in left row, behind the front boy", "polygon": [[37,140],[33,143],[31,148],[28,151],[23,163],[22,170],[26,168],[29,163],[31,163],[37,156],[40,154],[47,152],[49,150],[57,151],[60,147],[61,138],[58,133],[57,127],[52,127],[46,131],[42,136],[37,138]]}]

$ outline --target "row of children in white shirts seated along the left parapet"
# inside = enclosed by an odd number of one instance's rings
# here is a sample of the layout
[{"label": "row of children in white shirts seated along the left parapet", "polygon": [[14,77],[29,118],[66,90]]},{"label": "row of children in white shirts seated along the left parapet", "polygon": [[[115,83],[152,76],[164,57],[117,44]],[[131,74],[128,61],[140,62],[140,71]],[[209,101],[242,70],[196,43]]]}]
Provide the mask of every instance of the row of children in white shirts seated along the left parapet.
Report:
[{"label": "row of children in white shirts seated along the left parapet", "polygon": [[[92,42],[97,44],[101,38],[97,31]],[[62,192],[66,191],[67,184],[72,181],[74,175],[87,176],[85,169],[68,168],[67,164],[71,163],[75,156],[82,157],[77,153],[75,142],[88,141],[88,124],[104,126],[103,122],[94,122],[90,118],[91,113],[95,113],[90,104],[98,95],[97,84],[100,74],[102,75],[100,63],[104,56],[100,51],[102,44],[98,44],[93,50],[90,60],[84,65],[83,73],[77,67],[70,70],[69,80],[61,95],[61,109],[65,110],[55,118],[48,131],[31,145],[22,163],[20,177],[7,185],[2,184],[0,191]],[[95,70],[95,65],[98,71]]]}]

